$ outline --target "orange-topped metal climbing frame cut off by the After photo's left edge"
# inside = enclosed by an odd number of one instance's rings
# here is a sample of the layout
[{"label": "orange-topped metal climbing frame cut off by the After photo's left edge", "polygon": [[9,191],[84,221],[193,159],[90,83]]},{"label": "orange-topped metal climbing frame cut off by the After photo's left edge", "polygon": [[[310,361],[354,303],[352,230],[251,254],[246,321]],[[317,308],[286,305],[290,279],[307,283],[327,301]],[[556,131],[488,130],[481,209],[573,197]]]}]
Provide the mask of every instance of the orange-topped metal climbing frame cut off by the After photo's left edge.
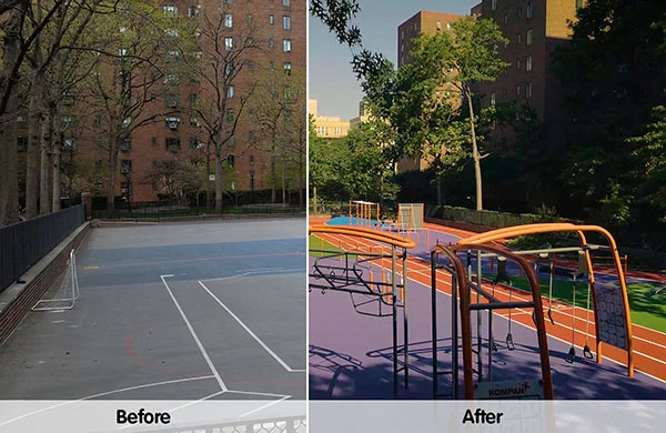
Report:
[{"label": "orange-topped metal climbing frame cut off by the After photo's left edge", "polygon": [[[364,314],[360,310],[360,306],[367,304],[372,301],[364,301],[356,303],[353,295],[365,295],[374,298],[380,305],[379,314],[369,314],[375,316],[391,316],[392,318],[392,334],[393,334],[393,394],[397,395],[398,391],[398,377],[402,372],[404,375],[404,387],[408,386],[408,321],[407,321],[407,295],[406,295],[406,282],[407,282],[407,249],[416,246],[416,244],[410,240],[393,235],[391,233],[381,232],[377,230],[357,228],[357,226],[344,226],[344,225],[313,225],[309,228],[309,234],[323,233],[339,236],[353,236],[360,238],[373,242],[381,242],[390,246],[390,252],[376,253],[372,251],[372,246],[369,246],[369,251],[343,251],[332,254],[333,258],[344,256],[344,265],[331,265],[324,263],[324,259],[317,258],[313,265],[313,271],[310,273],[309,289],[326,291],[346,292],[352,295],[352,302],[354,309]],[[310,250],[311,252],[317,252],[316,250]],[[379,268],[384,271],[384,262],[387,263],[389,279],[387,281],[373,281],[372,269],[367,272],[367,278],[364,274],[363,265],[369,264],[373,261],[380,262]],[[398,261],[402,269],[402,274],[398,274]],[[339,274],[342,273],[342,274]],[[324,283],[317,281],[323,280]],[[389,291],[386,291],[389,289]],[[386,314],[382,313],[382,304],[387,304],[390,312]],[[403,335],[402,344],[398,338],[398,311],[402,311],[402,325]],[[402,365],[398,363],[398,356],[402,355]]]}]

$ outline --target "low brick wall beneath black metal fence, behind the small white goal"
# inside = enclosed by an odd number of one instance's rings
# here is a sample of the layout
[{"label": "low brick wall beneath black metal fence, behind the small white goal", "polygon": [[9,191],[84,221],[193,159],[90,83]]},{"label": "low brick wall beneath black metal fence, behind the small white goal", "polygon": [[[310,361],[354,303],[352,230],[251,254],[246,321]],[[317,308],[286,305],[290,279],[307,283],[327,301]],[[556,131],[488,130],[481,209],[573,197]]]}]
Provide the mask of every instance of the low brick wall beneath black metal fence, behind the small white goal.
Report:
[{"label": "low brick wall beneath black metal fence, behind the small white goal", "polygon": [[89,223],[62,249],[60,254],[49,263],[37,278],[28,281],[21,292],[0,312],[0,345],[11,335],[26,314],[41,299],[44,292],[58,279],[67,265],[70,251],[78,249],[90,230]]}]

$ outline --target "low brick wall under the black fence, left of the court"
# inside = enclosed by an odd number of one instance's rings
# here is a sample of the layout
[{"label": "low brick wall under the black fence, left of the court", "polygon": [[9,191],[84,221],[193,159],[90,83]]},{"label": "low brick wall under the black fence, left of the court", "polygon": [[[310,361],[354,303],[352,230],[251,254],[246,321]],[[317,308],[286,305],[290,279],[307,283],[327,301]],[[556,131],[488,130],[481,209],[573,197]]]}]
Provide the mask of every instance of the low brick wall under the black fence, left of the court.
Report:
[{"label": "low brick wall under the black fence, left of the court", "polygon": [[64,271],[70,251],[79,248],[89,230],[90,223],[83,223],[22,276],[24,284],[14,283],[0,294],[0,345]]}]

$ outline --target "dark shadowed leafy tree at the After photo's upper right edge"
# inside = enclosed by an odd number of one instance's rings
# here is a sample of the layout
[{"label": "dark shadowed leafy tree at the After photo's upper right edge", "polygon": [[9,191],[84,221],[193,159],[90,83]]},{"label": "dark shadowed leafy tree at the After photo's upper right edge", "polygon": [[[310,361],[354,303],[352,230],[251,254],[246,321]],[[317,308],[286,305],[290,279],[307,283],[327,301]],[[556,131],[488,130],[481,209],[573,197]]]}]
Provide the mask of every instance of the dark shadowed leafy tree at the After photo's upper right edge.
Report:
[{"label": "dark shadowed leafy tree at the After photo's upper right edge", "polygon": [[627,138],[640,135],[653,107],[663,104],[665,39],[655,20],[665,13],[663,1],[591,0],[578,10],[571,43],[553,53],[567,117],[552,185],[567,194],[571,210],[598,211],[613,185],[638,187],[632,154],[639,142]]}]

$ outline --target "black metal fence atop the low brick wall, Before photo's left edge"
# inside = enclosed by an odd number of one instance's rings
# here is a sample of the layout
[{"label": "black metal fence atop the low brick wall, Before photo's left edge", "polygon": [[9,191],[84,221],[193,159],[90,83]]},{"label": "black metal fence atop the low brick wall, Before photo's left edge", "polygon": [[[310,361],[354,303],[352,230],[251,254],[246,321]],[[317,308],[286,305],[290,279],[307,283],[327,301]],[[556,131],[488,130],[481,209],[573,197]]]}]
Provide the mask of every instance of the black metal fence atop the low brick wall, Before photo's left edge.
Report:
[{"label": "black metal fence atop the low brick wall, Before photo's left edge", "polygon": [[85,221],[83,204],[0,229],[0,293]]}]

